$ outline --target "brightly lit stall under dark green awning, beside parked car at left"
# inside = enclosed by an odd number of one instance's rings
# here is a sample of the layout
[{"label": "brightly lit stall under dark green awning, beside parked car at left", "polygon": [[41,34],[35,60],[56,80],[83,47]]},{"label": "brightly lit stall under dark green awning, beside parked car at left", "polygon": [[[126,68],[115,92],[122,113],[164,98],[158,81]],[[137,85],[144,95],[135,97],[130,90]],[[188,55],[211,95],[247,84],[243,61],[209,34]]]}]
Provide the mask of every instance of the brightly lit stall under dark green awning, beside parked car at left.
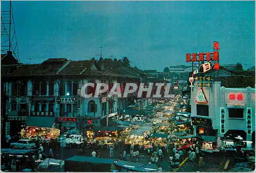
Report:
[{"label": "brightly lit stall under dark green awning, beside parked car at left", "polygon": [[37,136],[39,143],[48,143],[60,135],[60,130],[55,127],[55,117],[28,117],[26,125],[20,132],[22,138]]}]

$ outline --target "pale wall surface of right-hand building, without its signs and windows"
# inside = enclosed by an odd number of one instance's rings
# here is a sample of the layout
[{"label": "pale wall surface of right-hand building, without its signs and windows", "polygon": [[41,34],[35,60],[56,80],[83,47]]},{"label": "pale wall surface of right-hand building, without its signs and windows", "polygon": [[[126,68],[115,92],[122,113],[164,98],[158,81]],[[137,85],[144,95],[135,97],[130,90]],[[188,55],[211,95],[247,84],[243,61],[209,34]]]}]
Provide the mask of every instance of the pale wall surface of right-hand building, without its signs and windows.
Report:
[{"label": "pale wall surface of right-hand building, without its signs and windows", "polygon": [[[207,81],[204,81],[207,82]],[[242,130],[248,133],[247,128],[247,110],[251,109],[251,127],[252,131],[255,131],[255,89],[247,87],[245,89],[228,89],[221,87],[220,81],[212,82],[212,88],[203,87],[203,92],[207,98],[208,103],[196,103],[195,98],[197,96],[200,87],[194,87],[191,90],[191,115],[197,115],[197,104],[203,104],[209,106],[209,118],[212,121],[212,127],[218,129],[218,137],[223,137],[228,130]],[[230,100],[230,94],[234,94],[235,99]],[[243,99],[238,99],[238,94],[242,95]],[[240,105],[240,106],[239,106]],[[229,118],[229,108],[244,109],[243,118]],[[221,109],[225,110],[225,132],[221,132]],[[198,116],[198,115],[197,115]],[[199,116],[204,118],[205,116]],[[247,134],[247,140],[251,140],[251,134]]]}]

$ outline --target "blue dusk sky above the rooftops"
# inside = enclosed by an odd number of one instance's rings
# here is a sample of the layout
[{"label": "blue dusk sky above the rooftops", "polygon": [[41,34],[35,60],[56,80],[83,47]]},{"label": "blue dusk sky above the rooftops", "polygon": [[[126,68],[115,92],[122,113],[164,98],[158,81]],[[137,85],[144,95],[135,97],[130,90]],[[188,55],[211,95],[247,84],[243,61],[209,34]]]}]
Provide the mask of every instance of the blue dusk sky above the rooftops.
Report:
[{"label": "blue dusk sky above the rooftops", "polygon": [[[5,10],[9,2],[2,2]],[[20,60],[127,56],[132,66],[163,71],[186,53],[212,51],[220,63],[255,64],[251,2],[12,2]],[[143,64],[144,63],[144,64]],[[144,68],[145,67],[145,68]]]}]

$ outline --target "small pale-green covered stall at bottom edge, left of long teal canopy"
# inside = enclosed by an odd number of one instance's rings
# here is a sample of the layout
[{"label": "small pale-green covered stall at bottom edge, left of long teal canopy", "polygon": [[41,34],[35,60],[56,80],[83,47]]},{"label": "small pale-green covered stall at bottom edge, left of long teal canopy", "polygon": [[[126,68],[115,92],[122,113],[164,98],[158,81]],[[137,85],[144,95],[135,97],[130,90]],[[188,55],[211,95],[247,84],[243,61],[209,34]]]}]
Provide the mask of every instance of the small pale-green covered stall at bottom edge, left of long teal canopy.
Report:
[{"label": "small pale-green covered stall at bottom edge, left of long teal canopy", "polygon": [[64,172],[65,161],[56,159],[45,159],[37,166],[38,172]]}]

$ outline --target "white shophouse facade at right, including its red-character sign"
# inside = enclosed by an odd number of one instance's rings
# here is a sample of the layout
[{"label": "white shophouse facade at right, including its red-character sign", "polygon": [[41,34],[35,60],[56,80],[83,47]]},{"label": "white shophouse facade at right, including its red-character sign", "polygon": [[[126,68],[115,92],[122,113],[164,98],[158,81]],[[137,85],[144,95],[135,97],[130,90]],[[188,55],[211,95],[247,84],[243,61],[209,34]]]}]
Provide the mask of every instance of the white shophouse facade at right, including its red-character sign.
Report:
[{"label": "white shophouse facade at right, including its red-character sign", "polygon": [[[202,99],[205,103],[198,102],[197,95],[201,91],[195,86],[191,90],[191,115],[202,120],[210,119],[212,128],[217,130],[216,137],[228,135],[229,130],[244,131],[246,140],[252,140],[255,134],[255,89],[224,88],[220,81],[212,81],[211,88],[201,89],[206,101]],[[194,125],[194,134],[196,129]]]}]

